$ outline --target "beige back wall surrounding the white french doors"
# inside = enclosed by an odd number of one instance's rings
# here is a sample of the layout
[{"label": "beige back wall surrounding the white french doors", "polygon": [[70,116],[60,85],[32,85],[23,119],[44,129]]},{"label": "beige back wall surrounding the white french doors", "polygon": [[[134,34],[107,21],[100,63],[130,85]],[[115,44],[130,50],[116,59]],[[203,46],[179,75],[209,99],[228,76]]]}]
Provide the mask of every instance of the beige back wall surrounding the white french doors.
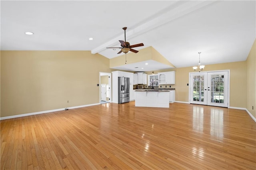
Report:
[{"label": "beige back wall surrounding the white french doors", "polygon": [[[230,107],[246,107],[246,61],[206,65],[204,71],[227,70],[230,69]],[[154,73],[164,71],[176,71],[175,100],[188,102],[189,99],[189,73],[194,72],[192,67],[182,67],[170,70],[154,71]],[[151,74],[151,72],[147,72]]]}]

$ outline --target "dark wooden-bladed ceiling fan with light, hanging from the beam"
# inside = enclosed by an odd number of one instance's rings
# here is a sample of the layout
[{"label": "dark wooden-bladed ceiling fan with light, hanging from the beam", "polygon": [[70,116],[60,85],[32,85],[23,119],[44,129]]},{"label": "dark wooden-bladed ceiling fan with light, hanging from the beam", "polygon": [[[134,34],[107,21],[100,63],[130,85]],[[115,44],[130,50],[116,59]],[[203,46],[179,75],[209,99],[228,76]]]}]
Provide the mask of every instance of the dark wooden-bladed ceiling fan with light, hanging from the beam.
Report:
[{"label": "dark wooden-bladed ceiling fan with light, hanging from the beam", "polygon": [[123,27],[124,30],[124,41],[119,40],[119,42],[121,43],[121,47],[106,47],[106,48],[121,48],[121,50],[118,52],[118,54],[120,53],[128,53],[129,51],[132,51],[134,53],[138,53],[139,51],[132,49],[134,47],[140,47],[140,46],[144,46],[143,43],[138,43],[138,44],[134,44],[134,45],[130,45],[129,42],[126,42],[126,36],[125,36],[125,30],[127,29],[127,27]]}]

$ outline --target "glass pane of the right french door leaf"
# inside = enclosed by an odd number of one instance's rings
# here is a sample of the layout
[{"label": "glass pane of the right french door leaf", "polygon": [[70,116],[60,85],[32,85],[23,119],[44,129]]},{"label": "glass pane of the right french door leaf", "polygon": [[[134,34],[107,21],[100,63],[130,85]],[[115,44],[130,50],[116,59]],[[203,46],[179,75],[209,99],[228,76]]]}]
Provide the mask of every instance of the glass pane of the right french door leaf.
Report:
[{"label": "glass pane of the right french door leaf", "polygon": [[224,103],[224,74],[211,75],[211,102]]}]

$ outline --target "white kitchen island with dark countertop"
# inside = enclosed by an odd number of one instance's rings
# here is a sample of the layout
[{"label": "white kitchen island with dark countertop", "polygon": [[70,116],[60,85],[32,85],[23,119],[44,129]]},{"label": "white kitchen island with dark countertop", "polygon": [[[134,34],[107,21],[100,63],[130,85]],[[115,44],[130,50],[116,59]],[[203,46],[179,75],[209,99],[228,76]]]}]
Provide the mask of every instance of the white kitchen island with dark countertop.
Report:
[{"label": "white kitchen island with dark countertop", "polygon": [[169,108],[168,90],[136,90],[136,107],[166,107]]}]

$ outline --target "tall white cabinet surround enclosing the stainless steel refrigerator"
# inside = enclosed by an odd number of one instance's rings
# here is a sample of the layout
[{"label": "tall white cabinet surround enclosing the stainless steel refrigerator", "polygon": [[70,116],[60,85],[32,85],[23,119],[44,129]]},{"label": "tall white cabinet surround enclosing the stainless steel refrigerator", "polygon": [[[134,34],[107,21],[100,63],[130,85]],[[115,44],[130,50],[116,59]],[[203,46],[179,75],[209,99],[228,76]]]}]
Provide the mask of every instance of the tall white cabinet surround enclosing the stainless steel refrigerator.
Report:
[{"label": "tall white cabinet surround enclosing the stainless steel refrigerator", "polygon": [[118,103],[118,77],[130,78],[130,99],[133,97],[133,73],[125,71],[112,71],[112,102]]}]

